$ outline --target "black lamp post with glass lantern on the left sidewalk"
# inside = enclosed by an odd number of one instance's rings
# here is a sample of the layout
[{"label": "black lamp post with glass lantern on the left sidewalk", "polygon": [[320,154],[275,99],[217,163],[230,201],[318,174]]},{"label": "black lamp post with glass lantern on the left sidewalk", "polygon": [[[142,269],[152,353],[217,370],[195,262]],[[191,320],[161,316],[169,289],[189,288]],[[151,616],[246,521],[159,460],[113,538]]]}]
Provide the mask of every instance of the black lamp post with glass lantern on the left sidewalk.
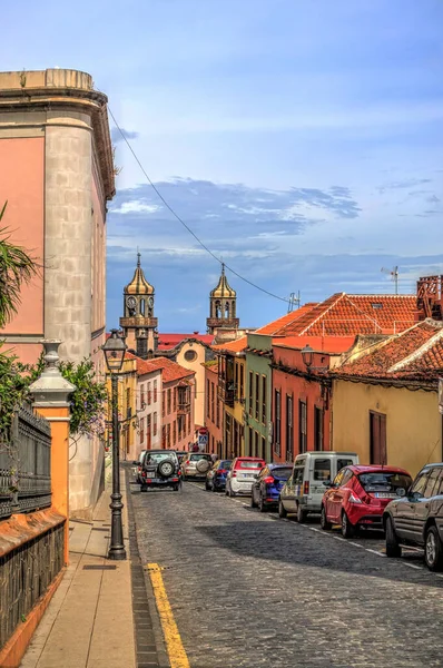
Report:
[{"label": "black lamp post with glass lantern on the left sidewalk", "polygon": [[111,330],[108,341],[102,346],[106,365],[111,376],[111,407],[112,407],[112,493],[111,503],[111,541],[109,546],[108,559],[121,561],[126,559],[124,544],[124,530],[121,524],[121,503],[120,493],[120,444],[118,434],[118,373],[121,370],[125,351],[127,345],[118,330]]}]

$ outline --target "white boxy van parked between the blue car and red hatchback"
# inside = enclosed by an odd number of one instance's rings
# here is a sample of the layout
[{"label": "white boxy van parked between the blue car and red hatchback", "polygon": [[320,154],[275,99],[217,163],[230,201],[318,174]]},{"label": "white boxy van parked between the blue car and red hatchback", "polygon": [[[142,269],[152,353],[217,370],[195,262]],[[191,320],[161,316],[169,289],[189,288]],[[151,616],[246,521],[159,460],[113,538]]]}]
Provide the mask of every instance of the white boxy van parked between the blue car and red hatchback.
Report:
[{"label": "white boxy van parked between the blue car and red hatchback", "polygon": [[296,513],[298,522],[304,522],[309,512],[319,513],[325,493],[324,483],[332,482],[344,466],[357,463],[358,455],[355,452],[314,450],[297,454],[293,474],[280,491],[279,517]]}]

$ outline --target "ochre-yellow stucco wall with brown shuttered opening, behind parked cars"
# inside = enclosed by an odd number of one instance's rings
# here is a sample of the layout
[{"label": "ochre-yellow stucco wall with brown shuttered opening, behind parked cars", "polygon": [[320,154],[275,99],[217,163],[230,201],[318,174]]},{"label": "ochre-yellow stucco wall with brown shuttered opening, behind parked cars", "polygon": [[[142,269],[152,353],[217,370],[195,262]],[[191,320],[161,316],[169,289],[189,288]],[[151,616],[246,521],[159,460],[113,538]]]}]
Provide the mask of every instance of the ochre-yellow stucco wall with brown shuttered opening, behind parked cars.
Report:
[{"label": "ochre-yellow stucco wall with brown shuttered opening, behind parked cars", "polygon": [[332,450],[356,452],[371,463],[370,412],[386,415],[386,464],[415,475],[442,461],[442,416],[436,391],[333,381]]}]

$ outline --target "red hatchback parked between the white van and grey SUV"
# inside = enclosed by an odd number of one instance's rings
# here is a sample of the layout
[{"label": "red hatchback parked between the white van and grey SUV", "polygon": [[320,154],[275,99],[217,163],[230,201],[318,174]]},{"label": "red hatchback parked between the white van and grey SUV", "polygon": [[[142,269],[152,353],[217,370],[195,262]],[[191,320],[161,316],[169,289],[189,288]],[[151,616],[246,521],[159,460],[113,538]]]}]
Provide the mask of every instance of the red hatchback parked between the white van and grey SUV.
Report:
[{"label": "red hatchback parked between the white van and grey SUV", "polygon": [[327,531],[333,524],[341,524],[345,538],[355,536],[360,527],[382,529],[384,509],[397,498],[398,489],[407,490],[411,483],[404,469],[378,464],[345,466],[323,497],[322,529]]}]

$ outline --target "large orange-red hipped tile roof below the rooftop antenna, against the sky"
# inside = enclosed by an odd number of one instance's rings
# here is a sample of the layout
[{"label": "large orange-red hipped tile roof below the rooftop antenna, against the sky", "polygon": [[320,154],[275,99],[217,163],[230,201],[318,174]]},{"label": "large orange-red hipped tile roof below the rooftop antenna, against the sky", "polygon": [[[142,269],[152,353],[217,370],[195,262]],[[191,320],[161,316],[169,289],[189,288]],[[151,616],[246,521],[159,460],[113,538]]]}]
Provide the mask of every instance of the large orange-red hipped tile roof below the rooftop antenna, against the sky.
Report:
[{"label": "large orange-red hipped tile roof below the rooftop antenna, against the sky", "polygon": [[415,295],[347,295],[337,293],[276,335],[350,336],[394,334],[414,324]]}]

